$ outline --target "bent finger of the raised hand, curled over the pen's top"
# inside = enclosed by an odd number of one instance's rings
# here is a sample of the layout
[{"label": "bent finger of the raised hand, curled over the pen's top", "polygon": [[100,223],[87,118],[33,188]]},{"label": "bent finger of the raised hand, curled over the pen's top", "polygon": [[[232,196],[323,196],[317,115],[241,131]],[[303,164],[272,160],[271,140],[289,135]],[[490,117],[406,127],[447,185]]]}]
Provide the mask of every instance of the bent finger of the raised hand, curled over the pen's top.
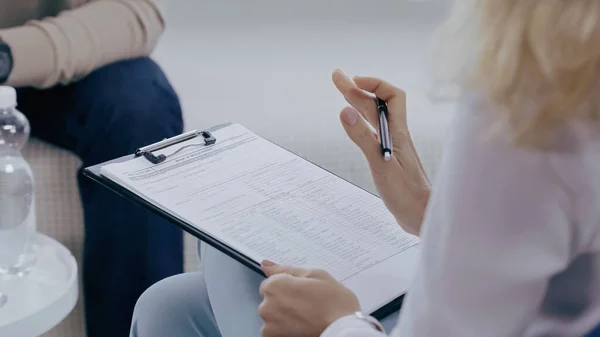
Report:
[{"label": "bent finger of the raised hand, curled over the pen's top", "polygon": [[406,130],[406,93],[402,89],[374,77],[356,76],[354,83],[359,89],[373,93],[387,102],[393,132]]}]

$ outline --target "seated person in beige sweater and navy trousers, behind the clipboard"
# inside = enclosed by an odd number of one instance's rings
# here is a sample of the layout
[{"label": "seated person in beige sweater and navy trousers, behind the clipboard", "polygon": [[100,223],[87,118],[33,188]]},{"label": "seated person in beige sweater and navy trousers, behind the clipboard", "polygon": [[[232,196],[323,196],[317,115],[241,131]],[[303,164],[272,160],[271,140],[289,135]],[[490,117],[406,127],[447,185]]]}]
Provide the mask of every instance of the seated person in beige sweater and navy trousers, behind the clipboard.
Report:
[{"label": "seated person in beige sweater and navy trousers, behind the clipboard", "polygon": [[[0,8],[0,84],[17,87],[34,136],[89,166],[182,131],[178,97],[148,58],[164,28],[152,0],[0,0]],[[127,336],[137,298],[183,271],[182,233],[78,179],[88,336]]]}]

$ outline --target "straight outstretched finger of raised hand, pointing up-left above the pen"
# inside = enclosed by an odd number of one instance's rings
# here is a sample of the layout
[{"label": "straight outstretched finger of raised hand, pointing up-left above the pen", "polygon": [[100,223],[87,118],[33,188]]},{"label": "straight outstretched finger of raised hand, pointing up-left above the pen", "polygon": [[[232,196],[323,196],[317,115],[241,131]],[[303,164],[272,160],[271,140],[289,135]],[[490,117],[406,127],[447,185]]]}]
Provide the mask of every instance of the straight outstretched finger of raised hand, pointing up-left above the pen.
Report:
[{"label": "straight outstretched finger of raised hand, pointing up-left above the pen", "polygon": [[355,107],[371,125],[377,125],[377,110],[374,97],[358,88],[356,84],[339,69],[333,72],[332,79],[336,88],[342,93],[346,101]]}]

